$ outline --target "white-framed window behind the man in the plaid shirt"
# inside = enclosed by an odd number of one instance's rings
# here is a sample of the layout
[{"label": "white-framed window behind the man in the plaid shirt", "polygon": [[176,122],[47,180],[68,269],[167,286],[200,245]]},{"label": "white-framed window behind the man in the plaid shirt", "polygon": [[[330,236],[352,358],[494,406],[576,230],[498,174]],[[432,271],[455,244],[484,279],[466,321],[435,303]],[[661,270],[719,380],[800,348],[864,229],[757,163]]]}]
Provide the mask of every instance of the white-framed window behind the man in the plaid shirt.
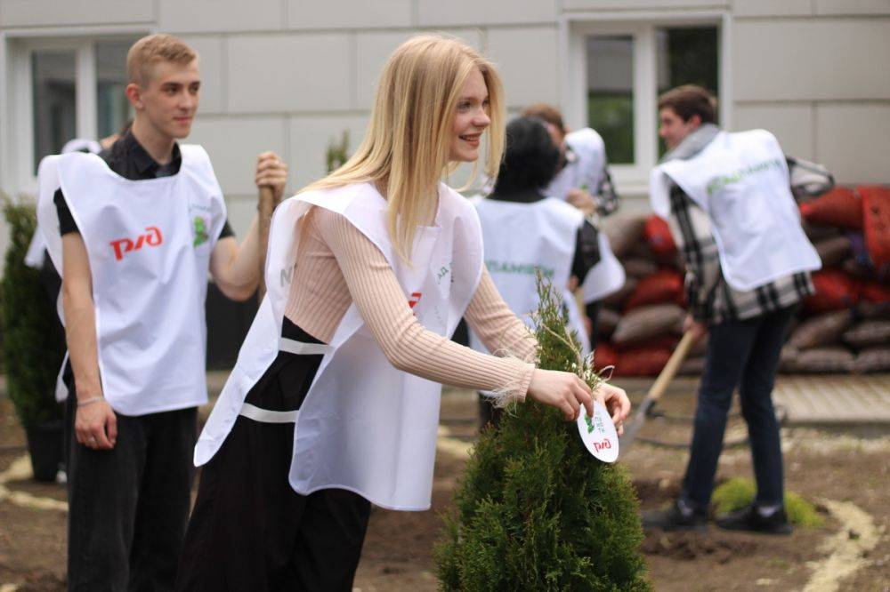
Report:
[{"label": "white-framed window behind the man in the plaid shirt", "polygon": [[565,115],[570,127],[589,126],[603,136],[620,193],[645,193],[651,167],[664,154],[661,92],[700,84],[719,97],[720,21],[720,15],[692,15],[676,22],[570,23]]}]

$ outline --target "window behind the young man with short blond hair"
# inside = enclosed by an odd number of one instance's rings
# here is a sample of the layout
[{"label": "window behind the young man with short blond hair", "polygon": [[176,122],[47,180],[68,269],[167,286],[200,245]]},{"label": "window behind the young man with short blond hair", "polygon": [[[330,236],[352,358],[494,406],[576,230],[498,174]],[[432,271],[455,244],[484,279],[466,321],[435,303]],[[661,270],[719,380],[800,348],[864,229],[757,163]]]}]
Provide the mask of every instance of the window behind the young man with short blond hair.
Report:
[{"label": "window behind the young man with short blond hair", "polygon": [[124,95],[126,52],[138,35],[12,39],[7,74],[16,149],[5,156],[13,192],[33,193],[40,160],[75,138],[118,132],[132,109]]}]

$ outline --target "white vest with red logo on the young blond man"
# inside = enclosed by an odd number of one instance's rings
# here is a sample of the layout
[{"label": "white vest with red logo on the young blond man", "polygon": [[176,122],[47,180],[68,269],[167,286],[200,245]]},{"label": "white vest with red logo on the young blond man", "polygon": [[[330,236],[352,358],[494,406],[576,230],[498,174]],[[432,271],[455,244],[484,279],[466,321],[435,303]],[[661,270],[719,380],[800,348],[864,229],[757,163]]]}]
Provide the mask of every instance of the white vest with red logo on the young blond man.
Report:
[{"label": "white vest with red logo on the young blond man", "polygon": [[[204,148],[180,148],[180,171],[151,180],[127,180],[82,153],[40,164],[50,256],[62,269],[61,187],[90,261],[102,393],[125,415],[206,403],[207,272],[226,213]],[[60,385],[57,397],[66,395]]]}]

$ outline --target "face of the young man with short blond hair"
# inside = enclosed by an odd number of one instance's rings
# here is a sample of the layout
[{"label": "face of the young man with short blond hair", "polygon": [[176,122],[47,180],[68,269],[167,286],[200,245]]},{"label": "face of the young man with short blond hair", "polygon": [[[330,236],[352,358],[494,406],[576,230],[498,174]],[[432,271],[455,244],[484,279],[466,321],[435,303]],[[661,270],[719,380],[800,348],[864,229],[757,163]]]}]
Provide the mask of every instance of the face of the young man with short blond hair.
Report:
[{"label": "face of the young man with short blond hair", "polygon": [[161,61],[152,68],[144,86],[130,84],[127,95],[137,114],[158,133],[169,138],[185,138],[198,110],[201,77],[198,60],[188,64]]}]

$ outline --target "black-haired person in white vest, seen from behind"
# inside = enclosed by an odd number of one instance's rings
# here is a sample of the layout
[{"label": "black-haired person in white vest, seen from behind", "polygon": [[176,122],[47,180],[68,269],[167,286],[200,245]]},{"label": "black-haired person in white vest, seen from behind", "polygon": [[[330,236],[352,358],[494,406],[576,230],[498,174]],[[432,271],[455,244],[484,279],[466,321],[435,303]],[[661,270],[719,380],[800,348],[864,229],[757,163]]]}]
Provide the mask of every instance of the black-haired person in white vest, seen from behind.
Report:
[{"label": "black-haired person in white vest, seen from behind", "polygon": [[[578,332],[587,354],[587,330],[569,286],[584,281],[600,252],[596,229],[584,214],[562,199],[546,196],[545,188],[554,178],[560,154],[546,122],[532,116],[514,119],[506,126],[504,160],[494,190],[475,205],[485,265],[510,310],[531,324],[530,313],[538,308],[535,282],[539,269],[554,286],[564,289],[571,328]],[[470,345],[488,351],[473,332]],[[500,413],[491,397],[480,393],[479,405],[482,425],[497,424]]]}]

